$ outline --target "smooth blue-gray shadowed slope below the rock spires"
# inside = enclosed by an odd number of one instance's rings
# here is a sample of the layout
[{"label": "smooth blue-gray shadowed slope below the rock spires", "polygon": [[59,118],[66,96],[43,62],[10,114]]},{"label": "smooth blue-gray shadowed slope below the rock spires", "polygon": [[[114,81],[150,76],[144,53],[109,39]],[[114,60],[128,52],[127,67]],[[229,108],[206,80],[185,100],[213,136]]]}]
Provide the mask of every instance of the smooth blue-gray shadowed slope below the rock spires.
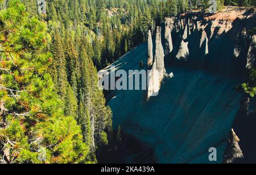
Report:
[{"label": "smooth blue-gray shadowed slope below the rock spires", "polygon": [[[140,45],[114,65],[138,68],[146,51],[146,44]],[[113,92],[108,105],[114,128],[121,126],[126,134],[153,147],[157,163],[207,163],[210,147],[217,148],[221,163],[239,108],[241,94],[233,89],[238,80],[182,68],[167,71],[174,78],[166,79],[159,95],[148,103],[142,90]]]}]

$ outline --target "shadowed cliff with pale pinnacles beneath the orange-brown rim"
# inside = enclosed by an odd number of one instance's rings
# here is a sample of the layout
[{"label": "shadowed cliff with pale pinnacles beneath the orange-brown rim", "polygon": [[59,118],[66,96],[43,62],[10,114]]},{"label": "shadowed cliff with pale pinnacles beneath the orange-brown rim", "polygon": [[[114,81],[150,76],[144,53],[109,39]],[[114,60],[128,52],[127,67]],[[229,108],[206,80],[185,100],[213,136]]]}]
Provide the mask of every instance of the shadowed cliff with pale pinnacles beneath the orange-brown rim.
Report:
[{"label": "shadowed cliff with pale pinnacles beneath the orange-brown rim", "polygon": [[[238,73],[244,70],[246,62],[247,68],[250,68],[251,61],[255,64],[255,46],[251,41],[248,53],[251,38],[246,32],[255,26],[256,15],[255,12],[244,14],[246,10],[224,10],[212,15],[191,12],[178,16],[174,22],[173,50],[169,60],[189,60],[194,66],[208,70],[211,67],[216,72]],[[220,61],[216,61],[216,55]],[[248,57],[246,61],[245,55]],[[232,66],[228,65],[230,62]]]}]

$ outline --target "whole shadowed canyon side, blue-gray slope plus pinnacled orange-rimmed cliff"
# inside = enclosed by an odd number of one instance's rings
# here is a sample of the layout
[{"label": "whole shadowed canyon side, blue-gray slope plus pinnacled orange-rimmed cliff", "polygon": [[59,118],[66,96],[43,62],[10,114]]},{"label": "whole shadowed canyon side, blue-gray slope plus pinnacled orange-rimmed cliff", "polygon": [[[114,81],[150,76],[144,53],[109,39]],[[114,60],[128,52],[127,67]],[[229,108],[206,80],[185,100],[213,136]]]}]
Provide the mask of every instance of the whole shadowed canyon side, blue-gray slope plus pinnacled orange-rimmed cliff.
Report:
[{"label": "whole shadowed canyon side, blue-gray slope plus pinnacled orange-rimmed cliff", "polygon": [[[243,94],[234,88],[242,78],[235,73],[244,74],[246,63],[250,62],[247,55],[255,58],[255,52],[251,51],[253,46],[249,49],[251,38],[241,31],[256,27],[256,15],[248,17],[243,15],[245,12],[224,11],[213,15],[192,12],[178,16],[171,33],[173,50],[170,60],[166,60],[171,65],[166,66],[167,72],[175,72],[175,77],[164,79],[158,96],[147,103],[144,102],[145,91],[114,91],[114,98],[110,97],[108,105],[113,111],[114,128],[121,126],[123,132],[152,148],[151,158],[156,163],[209,163],[210,147],[217,149],[216,163],[236,163],[241,157],[247,159],[250,155],[255,161],[256,152],[253,150],[252,154],[251,151],[256,147],[256,141],[252,139],[256,135],[256,119],[249,119],[250,127],[242,122],[243,116],[250,115],[248,101],[245,99],[240,105]],[[187,26],[187,30],[189,27],[183,21],[188,18],[192,30],[185,43],[182,40],[184,27]],[[157,56],[153,71],[164,70],[159,28],[156,38]],[[234,48],[237,48],[235,54]],[[131,70],[138,67],[142,58],[146,62],[146,55],[147,43],[144,43],[114,64],[121,65],[118,69]],[[152,87],[158,87],[151,82]],[[241,117],[237,123],[242,124],[242,129],[233,124],[238,113]],[[255,113],[251,115],[256,118]],[[234,128],[231,134],[230,128]],[[243,128],[250,129],[243,132]],[[239,144],[238,138],[241,140]],[[248,140],[253,148],[246,148],[244,140]]]}]

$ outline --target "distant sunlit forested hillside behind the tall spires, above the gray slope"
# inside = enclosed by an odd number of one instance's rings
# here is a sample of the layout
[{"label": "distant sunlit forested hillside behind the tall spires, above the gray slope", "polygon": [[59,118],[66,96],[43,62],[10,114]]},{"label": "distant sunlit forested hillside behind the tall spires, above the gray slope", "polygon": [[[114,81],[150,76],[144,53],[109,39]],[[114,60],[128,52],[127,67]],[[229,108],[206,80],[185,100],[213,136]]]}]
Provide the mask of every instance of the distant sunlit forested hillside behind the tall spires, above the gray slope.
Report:
[{"label": "distant sunlit forested hillside behind the tall spires, above the gray slope", "polygon": [[[37,14],[34,0],[23,2],[31,15]],[[49,32],[75,43],[76,50],[84,38],[86,52],[97,68],[104,68],[146,40],[148,28],[154,28],[156,19],[163,20],[163,5],[156,0],[47,1],[47,12],[40,18],[49,23]]]}]

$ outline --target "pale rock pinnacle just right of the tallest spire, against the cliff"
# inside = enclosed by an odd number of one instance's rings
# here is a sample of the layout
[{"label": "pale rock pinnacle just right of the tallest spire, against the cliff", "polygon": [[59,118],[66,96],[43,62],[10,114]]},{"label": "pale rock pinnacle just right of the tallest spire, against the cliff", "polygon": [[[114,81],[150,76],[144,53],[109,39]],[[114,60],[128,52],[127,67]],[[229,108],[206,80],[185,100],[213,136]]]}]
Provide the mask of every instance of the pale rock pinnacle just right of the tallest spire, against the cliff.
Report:
[{"label": "pale rock pinnacle just right of the tallest spire, against the cliff", "polygon": [[171,36],[171,30],[173,26],[172,18],[166,18],[166,29],[164,31],[164,38],[165,38],[165,54],[168,55],[172,52],[173,46],[172,46],[172,36]]}]

